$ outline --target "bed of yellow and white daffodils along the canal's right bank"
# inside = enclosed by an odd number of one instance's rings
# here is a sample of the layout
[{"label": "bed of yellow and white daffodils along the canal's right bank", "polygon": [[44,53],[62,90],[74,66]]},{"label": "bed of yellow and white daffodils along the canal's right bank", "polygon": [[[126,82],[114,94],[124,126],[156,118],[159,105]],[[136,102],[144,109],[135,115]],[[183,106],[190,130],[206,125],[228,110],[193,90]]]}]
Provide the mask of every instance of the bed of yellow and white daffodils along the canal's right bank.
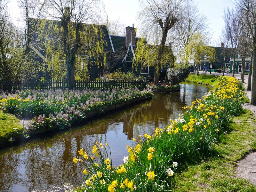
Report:
[{"label": "bed of yellow and white daffodils along the canal's right bank", "polygon": [[[155,136],[134,139],[121,166],[112,165],[108,144],[96,142],[92,153],[80,149],[80,157],[73,161],[84,165],[85,182],[76,191],[170,190],[176,169],[209,156],[223,125],[240,112],[242,96],[238,80],[220,77],[217,89],[184,107],[187,111],[170,119],[166,129],[156,128]],[[107,156],[102,155],[105,152]]]}]

